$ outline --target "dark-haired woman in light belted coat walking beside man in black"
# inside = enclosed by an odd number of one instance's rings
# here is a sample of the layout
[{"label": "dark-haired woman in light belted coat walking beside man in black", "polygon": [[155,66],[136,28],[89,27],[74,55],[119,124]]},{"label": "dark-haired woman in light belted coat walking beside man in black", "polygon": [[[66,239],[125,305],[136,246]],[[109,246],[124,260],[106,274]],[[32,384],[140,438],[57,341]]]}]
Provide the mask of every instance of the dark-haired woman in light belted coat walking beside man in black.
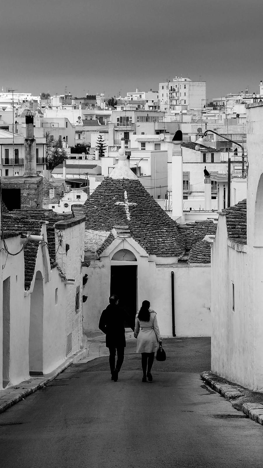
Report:
[{"label": "dark-haired woman in light belted coat walking beside man in black", "polygon": [[142,382],[152,382],[151,368],[158,343],[162,344],[156,312],[151,310],[149,300],[142,302],[136,314],[134,336],[137,338],[137,351],[142,353]]}]

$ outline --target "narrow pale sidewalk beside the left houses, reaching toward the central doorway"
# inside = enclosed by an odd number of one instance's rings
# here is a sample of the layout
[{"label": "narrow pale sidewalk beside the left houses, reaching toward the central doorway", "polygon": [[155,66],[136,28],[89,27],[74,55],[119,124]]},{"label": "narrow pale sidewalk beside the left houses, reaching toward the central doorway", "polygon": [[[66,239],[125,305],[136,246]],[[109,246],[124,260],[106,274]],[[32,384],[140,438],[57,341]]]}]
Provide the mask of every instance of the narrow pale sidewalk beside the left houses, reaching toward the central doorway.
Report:
[{"label": "narrow pale sidewalk beside the left houses, reaching toward the central doorway", "polygon": [[[101,332],[86,332],[87,341],[85,349],[78,351],[69,356],[64,363],[57,367],[50,374],[40,377],[31,377],[29,380],[24,380],[19,384],[0,390],[0,413],[13,406],[15,403],[24,400],[31,393],[36,392],[39,388],[43,388],[48,382],[54,380],[58,374],[63,372],[71,364],[76,364],[81,360],[82,363],[91,361],[92,359],[101,358],[109,355],[108,349],[105,346],[105,335]],[[133,339],[133,332],[125,333],[126,340]]]}]

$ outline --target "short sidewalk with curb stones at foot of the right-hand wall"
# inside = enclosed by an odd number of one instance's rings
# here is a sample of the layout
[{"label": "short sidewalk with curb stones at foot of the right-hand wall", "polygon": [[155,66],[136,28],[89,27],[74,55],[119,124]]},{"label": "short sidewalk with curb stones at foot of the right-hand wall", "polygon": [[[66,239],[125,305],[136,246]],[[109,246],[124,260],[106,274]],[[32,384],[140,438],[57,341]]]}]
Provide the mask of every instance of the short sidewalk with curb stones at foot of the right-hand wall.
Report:
[{"label": "short sidewalk with curb stones at foot of the right-hand wall", "polygon": [[212,372],[202,372],[201,378],[209,387],[243,411],[252,421],[263,425],[263,393],[253,392]]}]

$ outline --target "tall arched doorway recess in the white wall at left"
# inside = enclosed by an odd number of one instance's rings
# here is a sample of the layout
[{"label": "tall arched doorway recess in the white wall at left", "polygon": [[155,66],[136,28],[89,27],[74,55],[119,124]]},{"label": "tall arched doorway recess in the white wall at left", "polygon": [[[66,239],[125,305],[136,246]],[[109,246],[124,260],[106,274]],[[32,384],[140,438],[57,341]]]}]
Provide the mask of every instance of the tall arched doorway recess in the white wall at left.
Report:
[{"label": "tall arched doorway recess in the white wall at left", "polygon": [[41,271],[36,279],[30,299],[29,322],[29,374],[43,375],[43,278]]}]

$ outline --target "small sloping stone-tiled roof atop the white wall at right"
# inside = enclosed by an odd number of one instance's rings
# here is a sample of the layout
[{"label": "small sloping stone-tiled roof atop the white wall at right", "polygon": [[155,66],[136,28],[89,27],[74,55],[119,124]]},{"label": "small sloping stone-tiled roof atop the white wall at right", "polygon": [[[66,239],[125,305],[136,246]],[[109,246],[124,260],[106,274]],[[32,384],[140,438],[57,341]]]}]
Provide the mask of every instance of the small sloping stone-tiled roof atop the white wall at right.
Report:
[{"label": "small sloping stone-tiled roof atop the white wall at right", "polygon": [[247,200],[229,206],[222,213],[226,216],[227,236],[231,241],[247,243]]}]

